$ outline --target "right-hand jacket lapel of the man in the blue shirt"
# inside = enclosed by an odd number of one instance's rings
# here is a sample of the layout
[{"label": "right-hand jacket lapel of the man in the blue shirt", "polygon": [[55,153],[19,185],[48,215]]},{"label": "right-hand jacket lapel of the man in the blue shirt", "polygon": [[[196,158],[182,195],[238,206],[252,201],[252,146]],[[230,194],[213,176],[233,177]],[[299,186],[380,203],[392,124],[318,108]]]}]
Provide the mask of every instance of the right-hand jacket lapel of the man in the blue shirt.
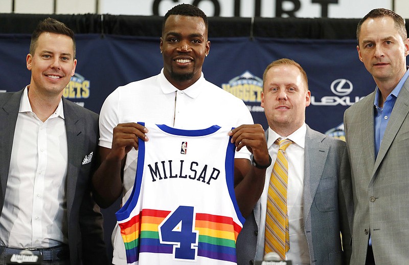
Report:
[{"label": "right-hand jacket lapel of the man in the blue shirt", "polygon": [[403,84],[402,89],[396,99],[391,114],[391,120],[388,122],[387,128],[385,129],[385,133],[383,135],[378,156],[375,161],[375,166],[372,167],[373,171],[371,176],[375,175],[376,170],[385,157],[385,154],[388,152],[389,147],[391,147],[396,134],[402,126],[403,121],[406,119],[407,114],[409,113],[409,105],[407,102],[409,100],[409,92],[407,91],[407,86],[409,86],[409,79],[407,79]]}]

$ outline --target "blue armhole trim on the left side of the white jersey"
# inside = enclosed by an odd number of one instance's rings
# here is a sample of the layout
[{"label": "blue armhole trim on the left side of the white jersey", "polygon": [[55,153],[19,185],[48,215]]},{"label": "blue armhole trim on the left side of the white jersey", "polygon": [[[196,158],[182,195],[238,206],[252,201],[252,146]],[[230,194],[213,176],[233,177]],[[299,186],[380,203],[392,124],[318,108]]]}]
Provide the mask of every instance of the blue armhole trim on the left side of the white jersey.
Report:
[{"label": "blue armhole trim on the left side of the white jersey", "polygon": [[[145,126],[145,122],[138,122],[142,126]],[[129,217],[132,210],[137,206],[138,197],[141,193],[141,185],[142,185],[142,173],[144,170],[145,164],[145,141],[138,138],[138,164],[137,164],[137,173],[135,174],[135,184],[133,185],[132,193],[129,196],[126,203],[119,209],[115,215],[119,221],[124,220]],[[133,200],[135,198],[135,200]]]}]

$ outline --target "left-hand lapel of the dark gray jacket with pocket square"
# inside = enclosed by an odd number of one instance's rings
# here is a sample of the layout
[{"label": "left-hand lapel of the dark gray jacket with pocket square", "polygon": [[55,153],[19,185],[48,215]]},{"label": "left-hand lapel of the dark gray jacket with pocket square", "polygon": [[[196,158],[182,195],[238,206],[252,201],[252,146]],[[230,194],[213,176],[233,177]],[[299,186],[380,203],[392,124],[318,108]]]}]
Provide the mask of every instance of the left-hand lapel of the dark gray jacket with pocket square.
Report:
[{"label": "left-hand lapel of the dark gray jacket with pocket square", "polygon": [[[23,91],[24,90],[14,93],[7,102],[0,106],[0,121],[2,121],[2,126],[0,126],[0,202],[4,201],[6,194],[11,149],[13,147],[14,131]],[[3,203],[0,206],[0,213],[2,208]]]}]

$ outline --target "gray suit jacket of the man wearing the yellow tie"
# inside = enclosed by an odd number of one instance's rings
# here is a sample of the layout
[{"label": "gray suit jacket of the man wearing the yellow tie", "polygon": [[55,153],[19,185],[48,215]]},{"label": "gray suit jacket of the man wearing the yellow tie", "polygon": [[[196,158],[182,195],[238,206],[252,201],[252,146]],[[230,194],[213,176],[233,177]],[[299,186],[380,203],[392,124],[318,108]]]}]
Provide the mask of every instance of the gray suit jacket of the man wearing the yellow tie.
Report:
[{"label": "gray suit jacket of the man wearing the yellow tie", "polygon": [[[311,264],[348,264],[353,203],[345,142],[323,135],[307,125],[304,157],[304,232]],[[237,238],[239,265],[254,263],[260,209],[259,201]]]}]

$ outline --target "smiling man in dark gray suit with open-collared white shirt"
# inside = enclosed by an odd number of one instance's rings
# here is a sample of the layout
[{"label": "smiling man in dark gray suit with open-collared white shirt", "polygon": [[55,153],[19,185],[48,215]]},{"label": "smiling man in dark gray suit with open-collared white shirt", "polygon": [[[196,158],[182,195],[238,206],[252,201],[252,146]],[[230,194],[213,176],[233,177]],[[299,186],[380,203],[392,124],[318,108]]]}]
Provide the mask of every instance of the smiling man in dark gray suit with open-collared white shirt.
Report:
[{"label": "smiling man in dark gray suit with open-collared white shirt", "polygon": [[30,84],[0,93],[0,264],[23,249],[42,264],[107,263],[90,188],[98,115],[61,97],[76,64],[73,31],[47,18],[32,35]]}]

